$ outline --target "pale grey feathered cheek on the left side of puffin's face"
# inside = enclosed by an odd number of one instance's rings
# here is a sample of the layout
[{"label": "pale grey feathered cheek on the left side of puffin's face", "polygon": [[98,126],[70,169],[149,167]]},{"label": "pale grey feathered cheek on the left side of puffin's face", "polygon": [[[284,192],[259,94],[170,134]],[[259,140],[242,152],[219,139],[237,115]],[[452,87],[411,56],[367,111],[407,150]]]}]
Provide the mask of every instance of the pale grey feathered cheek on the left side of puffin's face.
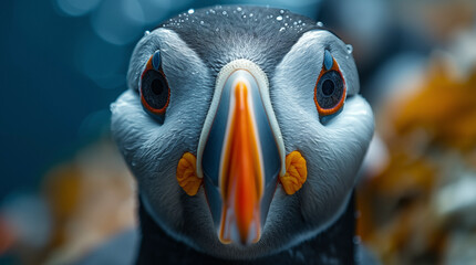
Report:
[{"label": "pale grey feathered cheek on the left side of puffin's face", "polygon": [[[163,125],[145,113],[137,94],[145,63],[158,49],[170,87]],[[131,89],[112,105],[112,132],[137,178],[147,211],[167,233],[189,245],[196,245],[189,239],[216,237],[203,191],[188,197],[175,178],[182,156],[196,155],[214,89],[208,68],[174,32],[158,29],[137,44],[128,84]]]}]

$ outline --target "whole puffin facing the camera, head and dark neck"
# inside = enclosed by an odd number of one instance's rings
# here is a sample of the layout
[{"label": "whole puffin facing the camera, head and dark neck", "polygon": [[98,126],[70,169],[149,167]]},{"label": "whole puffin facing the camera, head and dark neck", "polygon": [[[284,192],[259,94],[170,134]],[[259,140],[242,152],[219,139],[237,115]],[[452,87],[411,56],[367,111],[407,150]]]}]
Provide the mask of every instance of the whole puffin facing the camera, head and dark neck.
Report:
[{"label": "whole puffin facing the camera, head and dark neck", "polygon": [[145,32],[112,104],[138,190],[136,264],[358,264],[353,191],[373,136],[352,46],[269,7]]}]

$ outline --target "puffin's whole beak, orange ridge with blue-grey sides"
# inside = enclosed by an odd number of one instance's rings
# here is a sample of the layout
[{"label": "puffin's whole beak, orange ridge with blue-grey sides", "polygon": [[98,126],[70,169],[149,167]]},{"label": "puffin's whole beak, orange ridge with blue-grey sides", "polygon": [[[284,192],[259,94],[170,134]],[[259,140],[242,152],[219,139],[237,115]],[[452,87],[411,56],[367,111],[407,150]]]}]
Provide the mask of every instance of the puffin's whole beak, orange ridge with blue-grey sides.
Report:
[{"label": "puffin's whole beak, orange ridge with blue-grey sides", "polygon": [[258,242],[281,157],[258,82],[246,70],[236,70],[225,82],[201,168],[220,242]]}]

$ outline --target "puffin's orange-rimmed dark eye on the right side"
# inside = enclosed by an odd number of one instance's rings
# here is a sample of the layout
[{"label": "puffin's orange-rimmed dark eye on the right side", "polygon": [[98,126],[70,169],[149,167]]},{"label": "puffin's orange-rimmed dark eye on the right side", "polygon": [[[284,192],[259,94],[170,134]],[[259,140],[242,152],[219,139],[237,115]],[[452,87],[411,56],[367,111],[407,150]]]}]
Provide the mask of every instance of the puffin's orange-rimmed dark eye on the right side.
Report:
[{"label": "puffin's orange-rimmed dark eye on the right side", "polygon": [[324,62],[314,88],[314,103],[321,116],[338,113],[345,98],[345,82],[331,53],[325,50]]}]

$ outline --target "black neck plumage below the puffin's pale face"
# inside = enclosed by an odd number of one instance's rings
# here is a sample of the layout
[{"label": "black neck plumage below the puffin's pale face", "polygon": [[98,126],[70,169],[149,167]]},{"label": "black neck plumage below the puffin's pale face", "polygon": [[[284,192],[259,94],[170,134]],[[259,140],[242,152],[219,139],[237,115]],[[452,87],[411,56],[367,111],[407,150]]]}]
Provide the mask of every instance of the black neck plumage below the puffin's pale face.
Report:
[{"label": "black neck plumage below the puffin's pale face", "polygon": [[[227,261],[195,251],[188,245],[168,236],[139,206],[142,241],[137,265],[148,264],[194,264],[194,265],[324,265],[324,264],[368,264],[355,261],[359,245],[355,234],[355,202],[349,201],[345,212],[324,232],[297,246],[278,254],[256,259]],[[373,263],[372,263],[373,264]]]}]

